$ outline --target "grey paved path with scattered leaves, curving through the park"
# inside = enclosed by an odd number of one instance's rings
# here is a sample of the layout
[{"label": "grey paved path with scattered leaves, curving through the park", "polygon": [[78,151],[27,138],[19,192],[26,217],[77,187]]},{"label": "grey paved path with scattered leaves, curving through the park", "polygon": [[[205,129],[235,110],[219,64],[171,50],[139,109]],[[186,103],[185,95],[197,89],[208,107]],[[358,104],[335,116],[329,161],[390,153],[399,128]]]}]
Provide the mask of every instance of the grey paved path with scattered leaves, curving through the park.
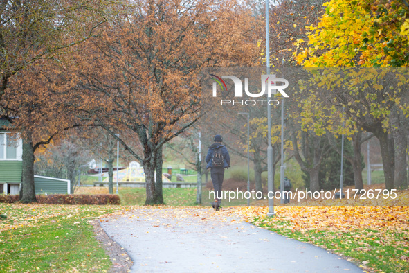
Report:
[{"label": "grey paved path with scattered leaves, curving through the park", "polygon": [[211,208],[141,208],[100,224],[127,249],[132,272],[362,272],[325,249]]}]

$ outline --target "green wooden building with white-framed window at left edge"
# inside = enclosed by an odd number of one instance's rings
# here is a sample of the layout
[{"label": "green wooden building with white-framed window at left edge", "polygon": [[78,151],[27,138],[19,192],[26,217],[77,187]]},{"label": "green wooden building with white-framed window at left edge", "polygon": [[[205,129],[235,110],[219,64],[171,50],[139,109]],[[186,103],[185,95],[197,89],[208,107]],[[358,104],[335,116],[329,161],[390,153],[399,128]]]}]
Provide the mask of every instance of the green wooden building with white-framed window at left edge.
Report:
[{"label": "green wooden building with white-framed window at left edge", "polygon": [[[0,118],[0,194],[17,195],[23,170],[23,143],[19,134],[7,131],[8,121]],[[67,179],[34,176],[35,193],[70,193]]]}]

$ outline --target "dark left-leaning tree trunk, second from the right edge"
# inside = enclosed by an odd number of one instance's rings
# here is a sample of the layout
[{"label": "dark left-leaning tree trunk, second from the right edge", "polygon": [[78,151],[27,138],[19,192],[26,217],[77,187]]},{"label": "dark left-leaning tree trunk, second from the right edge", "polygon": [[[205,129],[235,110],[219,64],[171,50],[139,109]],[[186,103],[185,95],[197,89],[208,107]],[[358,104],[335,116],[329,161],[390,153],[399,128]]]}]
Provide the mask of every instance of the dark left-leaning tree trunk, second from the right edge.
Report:
[{"label": "dark left-leaning tree trunk, second from the right edge", "polygon": [[394,188],[392,164],[394,159],[392,159],[391,152],[389,150],[388,133],[383,132],[383,130],[376,130],[374,132],[375,136],[379,139],[381,144],[381,155],[382,155],[382,165],[383,165],[383,175],[385,177],[385,188],[392,190]]}]

